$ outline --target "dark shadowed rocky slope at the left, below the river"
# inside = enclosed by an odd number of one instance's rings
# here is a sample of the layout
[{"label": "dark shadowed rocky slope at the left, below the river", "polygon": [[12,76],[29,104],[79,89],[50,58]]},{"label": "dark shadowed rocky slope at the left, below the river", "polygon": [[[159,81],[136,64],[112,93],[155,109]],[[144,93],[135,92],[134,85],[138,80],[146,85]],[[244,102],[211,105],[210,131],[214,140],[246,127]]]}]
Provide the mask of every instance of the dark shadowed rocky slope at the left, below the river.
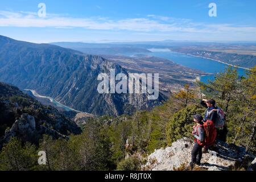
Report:
[{"label": "dark shadowed rocky slope at the left, below the river", "polygon": [[15,86],[0,82],[0,148],[10,137],[38,143],[43,134],[67,138],[79,134],[75,122],[51,106],[44,106]]}]

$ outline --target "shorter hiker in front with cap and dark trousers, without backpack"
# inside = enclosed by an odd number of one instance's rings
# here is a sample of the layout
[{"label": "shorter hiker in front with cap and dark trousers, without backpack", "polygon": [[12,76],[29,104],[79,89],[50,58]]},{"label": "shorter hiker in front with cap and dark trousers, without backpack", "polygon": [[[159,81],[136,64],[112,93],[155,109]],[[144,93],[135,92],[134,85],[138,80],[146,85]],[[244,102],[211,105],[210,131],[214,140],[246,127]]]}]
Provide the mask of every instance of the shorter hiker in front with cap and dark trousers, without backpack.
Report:
[{"label": "shorter hiker in front with cap and dark trousers, without backpack", "polygon": [[193,136],[195,137],[195,145],[191,152],[191,163],[190,166],[193,168],[195,164],[200,165],[201,158],[202,158],[202,150],[204,147],[204,126],[203,126],[203,117],[200,114],[196,114],[193,116],[194,122],[196,123],[193,126]]}]

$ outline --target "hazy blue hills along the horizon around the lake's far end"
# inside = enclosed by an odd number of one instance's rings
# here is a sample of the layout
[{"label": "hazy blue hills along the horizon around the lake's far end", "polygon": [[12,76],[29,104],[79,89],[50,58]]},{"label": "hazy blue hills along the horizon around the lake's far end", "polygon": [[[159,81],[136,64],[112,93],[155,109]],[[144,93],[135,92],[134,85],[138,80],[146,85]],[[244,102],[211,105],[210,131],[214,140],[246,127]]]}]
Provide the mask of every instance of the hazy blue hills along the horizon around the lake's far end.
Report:
[{"label": "hazy blue hills along the horizon around the lake's far end", "polygon": [[244,68],[256,65],[256,48],[253,42],[189,42],[164,40],[156,42],[129,43],[52,43],[57,46],[72,48],[84,53],[98,55],[117,55],[122,53],[144,53],[151,48],[168,48],[171,51],[188,53],[192,56],[206,57],[227,64]]}]

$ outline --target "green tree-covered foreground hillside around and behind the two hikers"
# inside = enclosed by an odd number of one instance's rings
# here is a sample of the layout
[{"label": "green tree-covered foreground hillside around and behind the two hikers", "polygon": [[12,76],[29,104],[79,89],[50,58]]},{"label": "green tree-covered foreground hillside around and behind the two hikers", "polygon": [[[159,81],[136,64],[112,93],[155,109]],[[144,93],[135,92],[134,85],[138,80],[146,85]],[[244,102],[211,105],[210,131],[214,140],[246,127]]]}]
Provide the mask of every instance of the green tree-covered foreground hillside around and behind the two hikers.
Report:
[{"label": "green tree-covered foreground hillside around and behind the two hikers", "polygon": [[[0,169],[50,170],[137,170],[155,149],[171,146],[177,139],[192,138],[192,115],[203,114],[201,97],[214,98],[226,113],[226,125],[218,130],[218,140],[245,147],[255,155],[256,67],[247,77],[238,77],[229,68],[209,84],[185,85],[162,106],[133,115],[92,118],[82,126],[82,134],[67,139],[45,135],[39,146],[22,144],[12,138],[2,149]],[[39,166],[35,151],[47,151],[47,165]],[[26,162],[7,159],[9,152]],[[241,166],[242,167],[242,166]]]}]

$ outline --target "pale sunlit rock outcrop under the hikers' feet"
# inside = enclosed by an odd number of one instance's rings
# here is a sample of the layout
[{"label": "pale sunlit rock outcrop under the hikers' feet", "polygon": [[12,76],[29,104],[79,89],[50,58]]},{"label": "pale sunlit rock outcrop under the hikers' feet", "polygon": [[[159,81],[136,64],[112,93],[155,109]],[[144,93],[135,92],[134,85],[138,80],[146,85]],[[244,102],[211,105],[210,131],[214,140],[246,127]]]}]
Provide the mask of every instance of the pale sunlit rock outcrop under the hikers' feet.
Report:
[{"label": "pale sunlit rock outcrop under the hikers' feet", "polygon": [[[193,144],[193,140],[183,138],[172,143],[171,147],[155,150],[148,156],[143,168],[152,171],[189,170]],[[254,156],[247,153],[243,147],[217,142],[214,150],[203,153],[201,165],[195,168],[208,171],[237,169],[238,164],[253,159]]]}]

